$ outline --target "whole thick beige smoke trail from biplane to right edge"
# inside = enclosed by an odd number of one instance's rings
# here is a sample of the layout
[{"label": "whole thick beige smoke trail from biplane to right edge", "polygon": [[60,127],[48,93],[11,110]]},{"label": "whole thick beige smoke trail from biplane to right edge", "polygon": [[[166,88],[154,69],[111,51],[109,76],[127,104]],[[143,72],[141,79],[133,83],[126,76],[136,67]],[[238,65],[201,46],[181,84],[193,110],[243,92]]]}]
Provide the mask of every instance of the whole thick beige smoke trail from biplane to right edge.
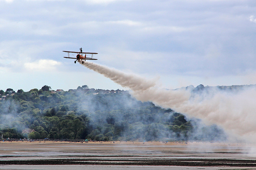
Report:
[{"label": "whole thick beige smoke trail from biplane to right edge", "polygon": [[160,89],[154,80],[146,80],[100,64],[85,62],[83,65],[122,87],[130,88],[137,100],[151,101],[158,106],[219,125],[240,139],[256,141],[255,88],[237,93],[215,90],[192,97],[190,90]]}]

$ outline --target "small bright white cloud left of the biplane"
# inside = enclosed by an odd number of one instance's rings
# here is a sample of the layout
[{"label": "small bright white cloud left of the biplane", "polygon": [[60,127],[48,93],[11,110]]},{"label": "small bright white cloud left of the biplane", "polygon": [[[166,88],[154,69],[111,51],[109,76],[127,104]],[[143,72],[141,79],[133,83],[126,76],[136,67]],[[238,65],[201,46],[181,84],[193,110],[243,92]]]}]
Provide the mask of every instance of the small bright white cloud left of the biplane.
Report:
[{"label": "small bright white cloud left of the biplane", "polygon": [[28,70],[49,71],[56,70],[58,65],[60,65],[58,61],[41,59],[33,63],[25,63],[24,67]]}]

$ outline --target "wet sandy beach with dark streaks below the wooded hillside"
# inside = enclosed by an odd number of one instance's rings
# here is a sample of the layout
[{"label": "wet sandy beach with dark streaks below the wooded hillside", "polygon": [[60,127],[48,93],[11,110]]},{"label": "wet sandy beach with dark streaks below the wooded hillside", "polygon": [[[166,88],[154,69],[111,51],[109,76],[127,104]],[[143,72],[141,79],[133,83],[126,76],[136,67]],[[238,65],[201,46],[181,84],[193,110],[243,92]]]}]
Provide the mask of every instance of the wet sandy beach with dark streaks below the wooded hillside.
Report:
[{"label": "wet sandy beach with dark streaks below the wooded hillside", "polygon": [[256,169],[256,145],[163,142],[1,142],[0,169]]}]

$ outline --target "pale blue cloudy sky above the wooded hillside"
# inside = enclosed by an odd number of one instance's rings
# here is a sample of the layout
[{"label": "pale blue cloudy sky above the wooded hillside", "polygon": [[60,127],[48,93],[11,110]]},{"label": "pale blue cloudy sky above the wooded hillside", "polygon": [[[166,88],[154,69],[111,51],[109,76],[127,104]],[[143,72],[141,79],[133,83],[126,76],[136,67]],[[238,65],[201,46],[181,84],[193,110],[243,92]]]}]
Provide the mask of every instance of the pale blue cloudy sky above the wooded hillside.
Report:
[{"label": "pale blue cloudy sky above the wooded hillside", "polygon": [[[128,90],[62,51],[163,88],[256,84],[255,0],[0,0],[0,90]],[[72,56],[70,56],[72,57]]]}]

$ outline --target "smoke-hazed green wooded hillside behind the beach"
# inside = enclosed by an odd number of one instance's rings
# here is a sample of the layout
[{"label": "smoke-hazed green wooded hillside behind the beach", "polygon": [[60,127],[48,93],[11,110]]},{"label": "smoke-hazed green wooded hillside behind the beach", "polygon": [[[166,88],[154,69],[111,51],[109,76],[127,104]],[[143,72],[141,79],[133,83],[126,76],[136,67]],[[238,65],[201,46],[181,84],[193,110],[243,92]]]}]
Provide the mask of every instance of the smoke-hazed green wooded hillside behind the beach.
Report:
[{"label": "smoke-hazed green wooded hillside behind the beach", "polygon": [[[127,91],[86,85],[64,92],[50,89],[0,90],[0,135],[4,139],[225,140],[216,125],[142,103]],[[35,132],[22,134],[26,128]]]}]

